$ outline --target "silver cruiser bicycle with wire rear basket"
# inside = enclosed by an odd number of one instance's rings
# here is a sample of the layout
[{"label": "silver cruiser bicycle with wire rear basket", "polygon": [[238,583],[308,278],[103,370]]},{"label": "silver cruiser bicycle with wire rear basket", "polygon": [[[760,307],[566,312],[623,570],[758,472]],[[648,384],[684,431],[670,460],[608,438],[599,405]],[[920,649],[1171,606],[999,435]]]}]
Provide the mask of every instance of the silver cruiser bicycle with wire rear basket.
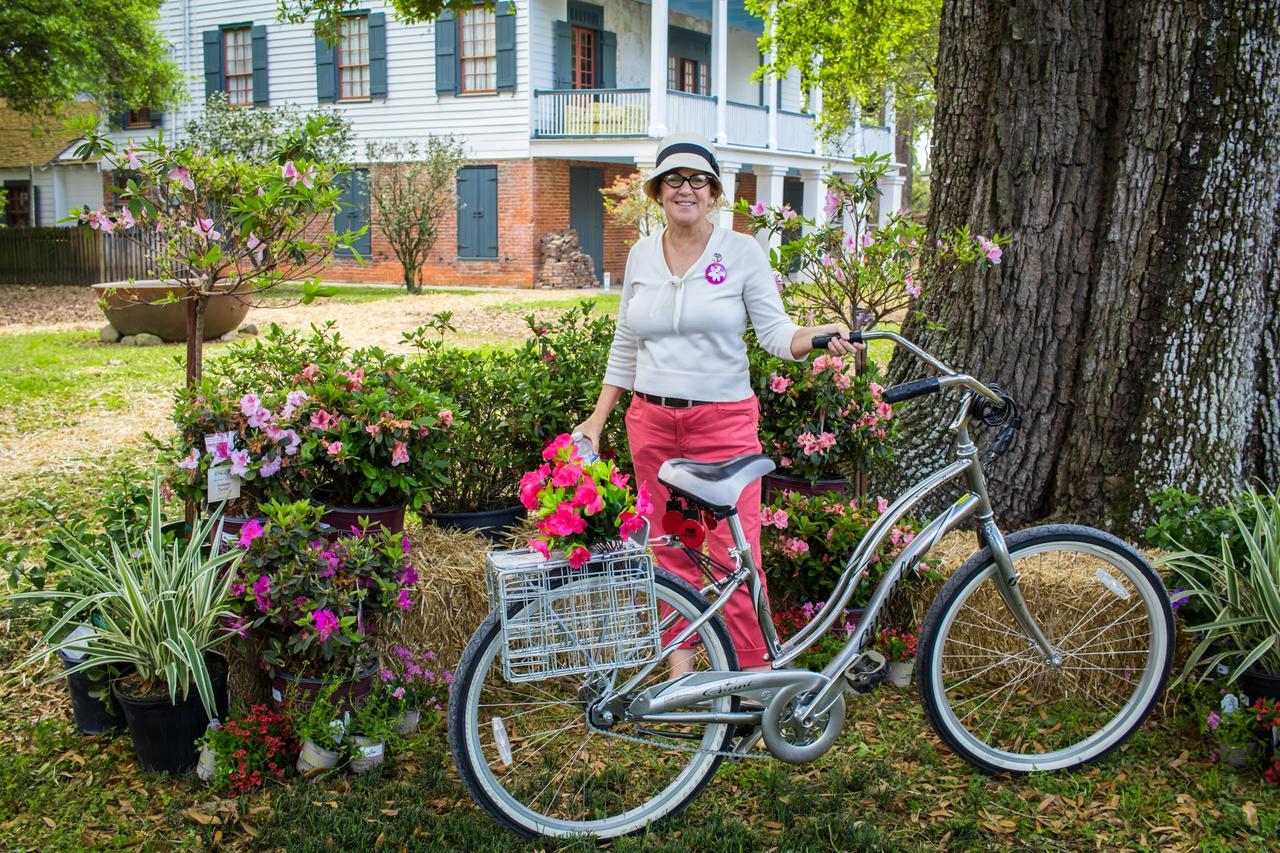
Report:
[{"label": "silver cruiser bicycle with wire rear basket", "polygon": [[[920,699],[942,742],[978,770],[1025,774],[1098,761],[1142,725],[1174,652],[1160,578],[1101,530],[1001,533],[970,428],[998,428],[989,453],[1002,453],[1020,426],[1014,401],[895,333],[852,337],[892,339],[940,374],[890,388],[886,401],[959,392],[955,461],[890,505],[794,637],[780,642],[774,631],[735,512],[742,489],[773,470],[762,455],[669,460],[659,473],[686,525],[728,525],[732,565],[671,534],[621,543],[576,570],[529,552],[490,553],[493,608],[458,663],[448,730],[462,781],[498,824],[529,838],[613,838],[678,813],[724,760],[818,758],[840,736],[846,701],[884,679],[870,646],[886,601],[965,523],[977,526],[979,551],[938,592],[918,647]],[[952,482],[960,497],[902,548],[831,662],[792,669],[840,620],[892,526]],[[703,589],[655,570],[646,546],[684,548]],[[733,594],[755,603],[768,672],[739,670],[719,617]]]}]

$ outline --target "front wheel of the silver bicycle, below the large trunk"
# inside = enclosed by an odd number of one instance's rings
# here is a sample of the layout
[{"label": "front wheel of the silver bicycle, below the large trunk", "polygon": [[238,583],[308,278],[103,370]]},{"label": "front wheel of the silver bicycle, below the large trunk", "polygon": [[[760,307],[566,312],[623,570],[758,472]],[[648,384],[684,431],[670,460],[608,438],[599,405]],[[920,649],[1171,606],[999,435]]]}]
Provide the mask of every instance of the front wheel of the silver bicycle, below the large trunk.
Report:
[{"label": "front wheel of the silver bicycle, below the large trunk", "polygon": [[983,548],[925,617],[919,690],[929,722],[987,772],[1094,762],[1142,725],[1165,689],[1169,594],[1142,555],[1101,530],[1047,525],[1006,544],[1018,589],[1059,660],[1046,660],[1014,619]]}]

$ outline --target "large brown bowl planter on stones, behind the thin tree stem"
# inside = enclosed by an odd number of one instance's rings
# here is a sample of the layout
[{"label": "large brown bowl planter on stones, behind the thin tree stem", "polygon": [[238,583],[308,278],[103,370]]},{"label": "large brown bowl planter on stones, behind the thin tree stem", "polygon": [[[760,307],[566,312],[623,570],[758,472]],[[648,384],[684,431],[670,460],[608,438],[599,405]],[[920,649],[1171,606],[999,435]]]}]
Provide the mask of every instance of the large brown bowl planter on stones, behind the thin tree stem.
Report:
[{"label": "large brown bowl planter on stones, behind the thin tree stem", "polygon": [[[184,291],[173,279],[104,282],[95,284],[93,289],[100,298],[106,300],[106,307],[102,309],[106,321],[114,325],[122,337],[146,332],[170,343],[187,339],[187,304],[182,298]],[[243,297],[230,296],[230,286],[225,288],[220,286],[220,289],[225,289],[227,295],[211,297],[205,309],[206,341],[238,329],[248,314],[248,302]],[[170,292],[177,301],[161,302]]]}]

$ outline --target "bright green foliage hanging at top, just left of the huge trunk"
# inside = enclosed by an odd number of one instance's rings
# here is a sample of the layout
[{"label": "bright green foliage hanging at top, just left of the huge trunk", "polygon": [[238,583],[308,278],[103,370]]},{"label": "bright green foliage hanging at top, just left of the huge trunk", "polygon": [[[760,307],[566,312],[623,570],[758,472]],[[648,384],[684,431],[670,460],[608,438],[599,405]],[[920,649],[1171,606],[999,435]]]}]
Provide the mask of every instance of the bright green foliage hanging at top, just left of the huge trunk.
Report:
[{"label": "bright green foliage hanging at top, just left of the huge trunk", "polygon": [[[774,9],[776,6],[776,9]],[[820,127],[838,136],[892,90],[899,123],[928,127],[933,117],[941,0],[746,0],[771,20],[760,40],[776,51],[774,69],[799,68],[806,92],[822,87]],[[820,56],[817,74],[814,56]]]}]

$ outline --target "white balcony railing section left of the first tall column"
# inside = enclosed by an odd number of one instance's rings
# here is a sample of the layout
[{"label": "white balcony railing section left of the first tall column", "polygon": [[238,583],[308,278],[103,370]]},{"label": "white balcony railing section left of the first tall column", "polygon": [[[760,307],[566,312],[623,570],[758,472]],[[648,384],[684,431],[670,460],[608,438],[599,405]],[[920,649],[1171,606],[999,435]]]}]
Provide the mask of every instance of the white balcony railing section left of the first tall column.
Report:
[{"label": "white balcony railing section left of the first tall column", "polygon": [[532,118],[535,137],[645,136],[649,90],[538,90]]}]

